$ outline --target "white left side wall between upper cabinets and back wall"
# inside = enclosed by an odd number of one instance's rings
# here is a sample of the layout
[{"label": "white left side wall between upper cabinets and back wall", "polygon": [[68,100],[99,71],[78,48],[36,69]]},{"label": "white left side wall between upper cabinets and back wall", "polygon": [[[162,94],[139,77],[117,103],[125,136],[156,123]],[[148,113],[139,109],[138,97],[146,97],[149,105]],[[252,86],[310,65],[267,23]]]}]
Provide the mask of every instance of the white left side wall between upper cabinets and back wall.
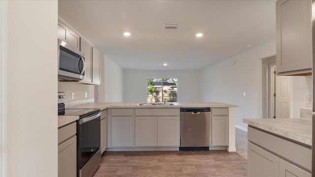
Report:
[{"label": "white left side wall between upper cabinets and back wall", "polygon": [[101,65],[98,102],[123,102],[124,70],[105,55],[102,55]]}]

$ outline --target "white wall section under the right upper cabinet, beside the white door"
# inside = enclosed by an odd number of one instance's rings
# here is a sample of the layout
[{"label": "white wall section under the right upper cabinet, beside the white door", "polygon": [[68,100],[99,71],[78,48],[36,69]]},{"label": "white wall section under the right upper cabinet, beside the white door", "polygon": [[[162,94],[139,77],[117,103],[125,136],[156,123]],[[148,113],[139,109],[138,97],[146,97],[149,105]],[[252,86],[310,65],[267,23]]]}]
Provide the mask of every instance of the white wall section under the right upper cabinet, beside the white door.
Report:
[{"label": "white wall section under the right upper cabinet, beside the white door", "polygon": [[290,89],[291,118],[300,118],[301,108],[312,110],[312,107],[305,107],[304,104],[305,95],[310,95],[312,99],[312,76],[291,76]]}]

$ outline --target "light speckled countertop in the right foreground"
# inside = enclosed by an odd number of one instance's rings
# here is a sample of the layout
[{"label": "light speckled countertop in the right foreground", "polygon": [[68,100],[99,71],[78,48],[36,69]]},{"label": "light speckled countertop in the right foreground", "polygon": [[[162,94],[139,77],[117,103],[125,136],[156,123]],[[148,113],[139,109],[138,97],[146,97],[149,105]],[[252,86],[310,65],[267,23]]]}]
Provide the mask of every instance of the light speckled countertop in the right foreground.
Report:
[{"label": "light speckled countertop in the right foreground", "polygon": [[312,146],[312,121],[303,118],[244,118],[244,123]]}]

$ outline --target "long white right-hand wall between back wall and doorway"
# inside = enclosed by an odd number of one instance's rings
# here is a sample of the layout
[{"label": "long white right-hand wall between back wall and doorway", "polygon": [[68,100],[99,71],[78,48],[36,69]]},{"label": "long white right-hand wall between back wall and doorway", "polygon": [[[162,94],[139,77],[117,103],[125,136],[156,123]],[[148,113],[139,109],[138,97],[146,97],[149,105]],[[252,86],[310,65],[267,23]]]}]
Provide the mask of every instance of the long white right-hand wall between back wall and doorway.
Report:
[{"label": "long white right-hand wall between back wall and doorway", "polygon": [[[262,116],[261,59],[276,54],[276,40],[226,59],[201,71],[200,95],[203,102],[239,105],[235,124],[247,129],[244,118]],[[246,96],[243,96],[246,92]]]}]

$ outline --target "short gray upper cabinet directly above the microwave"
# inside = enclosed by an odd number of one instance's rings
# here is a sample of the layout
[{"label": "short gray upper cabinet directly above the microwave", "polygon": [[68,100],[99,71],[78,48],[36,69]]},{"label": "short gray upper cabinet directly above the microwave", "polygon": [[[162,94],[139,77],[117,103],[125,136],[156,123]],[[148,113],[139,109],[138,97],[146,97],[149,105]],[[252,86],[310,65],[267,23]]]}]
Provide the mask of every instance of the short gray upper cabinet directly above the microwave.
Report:
[{"label": "short gray upper cabinet directly above the microwave", "polygon": [[58,39],[68,43],[74,49],[80,51],[80,36],[58,20]]}]

